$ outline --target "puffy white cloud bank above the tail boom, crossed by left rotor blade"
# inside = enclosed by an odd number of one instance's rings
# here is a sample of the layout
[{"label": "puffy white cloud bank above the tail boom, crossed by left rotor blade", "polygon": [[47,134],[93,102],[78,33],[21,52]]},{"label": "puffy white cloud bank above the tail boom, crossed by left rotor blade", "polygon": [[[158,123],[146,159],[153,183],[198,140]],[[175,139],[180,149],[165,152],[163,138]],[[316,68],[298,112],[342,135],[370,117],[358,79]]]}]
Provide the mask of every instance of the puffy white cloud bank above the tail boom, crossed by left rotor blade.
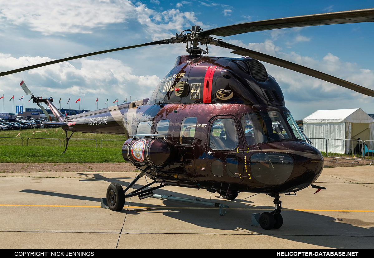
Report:
[{"label": "puffy white cloud bank above the tail boom, crossed by left rotor blade", "polygon": [[[47,57],[20,57],[0,53],[0,69],[13,68],[51,61]],[[40,67],[22,73],[12,74],[0,80],[0,92],[22,93],[16,83],[25,80],[34,94],[40,96],[136,96],[150,97],[160,78],[156,75],[133,73],[132,68],[120,60],[105,58],[98,60],[79,59],[80,68],[69,62]],[[93,98],[93,96],[92,96]]]}]

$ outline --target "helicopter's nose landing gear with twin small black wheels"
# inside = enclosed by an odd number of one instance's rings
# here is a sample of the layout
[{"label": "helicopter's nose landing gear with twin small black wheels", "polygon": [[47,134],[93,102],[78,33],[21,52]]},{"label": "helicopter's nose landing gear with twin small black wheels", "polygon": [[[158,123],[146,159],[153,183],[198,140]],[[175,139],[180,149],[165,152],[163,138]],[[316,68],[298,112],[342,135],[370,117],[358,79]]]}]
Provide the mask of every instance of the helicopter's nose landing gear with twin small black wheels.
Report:
[{"label": "helicopter's nose landing gear with twin small black wheels", "polygon": [[283,217],[281,215],[282,201],[279,200],[278,193],[269,194],[274,198],[275,210],[272,212],[264,212],[260,215],[260,226],[263,229],[270,230],[272,228],[280,228],[283,225]]}]

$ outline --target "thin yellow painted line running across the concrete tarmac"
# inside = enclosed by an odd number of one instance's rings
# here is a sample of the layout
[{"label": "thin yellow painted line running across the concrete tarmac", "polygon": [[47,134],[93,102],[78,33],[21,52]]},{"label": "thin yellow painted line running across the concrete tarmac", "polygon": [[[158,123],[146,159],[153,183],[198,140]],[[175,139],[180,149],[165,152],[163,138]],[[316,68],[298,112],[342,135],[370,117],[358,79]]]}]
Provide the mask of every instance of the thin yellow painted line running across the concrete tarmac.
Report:
[{"label": "thin yellow painted line running across the concrete tarmac", "polygon": [[[101,208],[101,206],[83,205],[25,205],[25,204],[0,204],[0,206],[25,206],[25,207],[81,207],[81,208]],[[128,206],[130,209],[218,209],[218,207],[167,207],[167,206]],[[230,210],[267,211],[269,209],[256,208],[229,208]],[[332,211],[332,212],[374,212],[371,210],[307,210],[307,209],[282,209],[283,211]]]}]

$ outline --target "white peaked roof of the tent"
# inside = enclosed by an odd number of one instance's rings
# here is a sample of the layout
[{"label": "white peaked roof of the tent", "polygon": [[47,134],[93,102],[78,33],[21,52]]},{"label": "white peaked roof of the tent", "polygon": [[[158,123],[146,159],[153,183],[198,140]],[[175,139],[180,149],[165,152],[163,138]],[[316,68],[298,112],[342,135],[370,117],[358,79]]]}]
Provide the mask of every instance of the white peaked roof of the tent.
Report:
[{"label": "white peaked roof of the tent", "polygon": [[374,119],[361,108],[317,110],[303,119],[303,123],[373,123]]}]

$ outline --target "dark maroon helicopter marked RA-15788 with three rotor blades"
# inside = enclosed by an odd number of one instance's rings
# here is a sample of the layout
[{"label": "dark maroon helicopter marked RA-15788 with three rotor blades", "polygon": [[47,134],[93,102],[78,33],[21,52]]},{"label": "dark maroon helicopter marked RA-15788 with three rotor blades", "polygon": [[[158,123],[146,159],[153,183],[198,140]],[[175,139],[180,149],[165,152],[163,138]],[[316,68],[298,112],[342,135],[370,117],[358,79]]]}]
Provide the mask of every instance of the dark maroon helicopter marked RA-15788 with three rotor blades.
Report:
[{"label": "dark maroon helicopter marked RA-15788 with three rotor blades", "polygon": [[[49,106],[58,120],[49,123],[65,130],[65,151],[74,132],[128,137],[122,156],[141,173],[125,189],[118,183],[108,186],[106,199],[111,210],[121,211],[126,198],[144,199],[166,185],[205,189],[227,200],[234,200],[240,192],[263,193],[274,198],[275,209],[261,214],[259,222],[262,228],[271,230],[283,225],[280,194],[296,195],[310,185],[318,190],[326,188],[313,184],[324,166],[321,152],[301,133],[285,107],[281,87],[260,61],[364,95],[374,97],[374,90],[226,43],[212,35],[226,37],[279,28],[373,21],[374,8],[246,22],[209,30],[194,25],[170,39],[58,59],[2,72],[0,76],[136,47],[187,44],[188,54],[177,57],[172,69],[146,99],[65,117],[53,105],[52,97],[36,97],[23,81],[21,87],[43,111],[41,104]],[[206,56],[208,44],[231,49],[243,57]],[[127,193],[144,175],[152,182]]]}]

